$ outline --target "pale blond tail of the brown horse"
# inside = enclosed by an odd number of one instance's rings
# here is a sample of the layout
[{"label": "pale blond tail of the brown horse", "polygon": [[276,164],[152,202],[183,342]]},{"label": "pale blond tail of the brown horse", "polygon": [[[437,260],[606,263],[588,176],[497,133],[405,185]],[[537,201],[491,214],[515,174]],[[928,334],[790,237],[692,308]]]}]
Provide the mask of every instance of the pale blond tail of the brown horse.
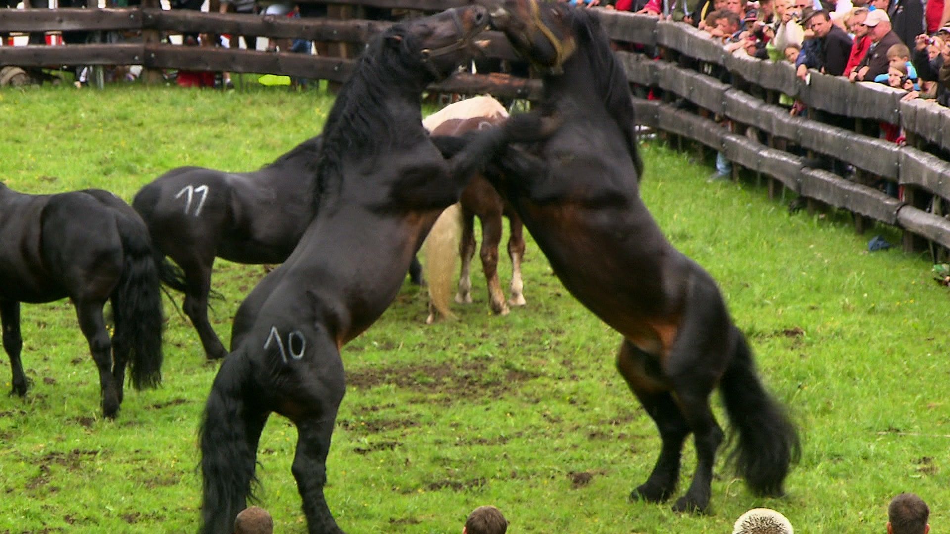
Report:
[{"label": "pale blond tail of the brown horse", "polygon": [[437,315],[446,318],[455,316],[448,307],[448,301],[461,229],[462,204],[456,202],[442,212],[428,233],[425,254],[429,298],[427,323],[434,322],[438,318]]}]

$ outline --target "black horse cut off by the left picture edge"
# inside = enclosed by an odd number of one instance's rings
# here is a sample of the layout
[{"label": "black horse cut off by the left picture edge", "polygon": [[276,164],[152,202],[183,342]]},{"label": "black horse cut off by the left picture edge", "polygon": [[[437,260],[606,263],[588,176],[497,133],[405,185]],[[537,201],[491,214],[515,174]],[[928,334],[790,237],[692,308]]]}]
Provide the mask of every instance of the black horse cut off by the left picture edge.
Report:
[{"label": "black horse cut off by the left picture edge", "polygon": [[126,362],[137,389],[161,382],[161,289],[148,229],[108,191],[25,195],[0,183],[0,325],[14,393],[27,394],[20,303],[66,296],[99,367],[103,414],[113,418],[122,404]]}]

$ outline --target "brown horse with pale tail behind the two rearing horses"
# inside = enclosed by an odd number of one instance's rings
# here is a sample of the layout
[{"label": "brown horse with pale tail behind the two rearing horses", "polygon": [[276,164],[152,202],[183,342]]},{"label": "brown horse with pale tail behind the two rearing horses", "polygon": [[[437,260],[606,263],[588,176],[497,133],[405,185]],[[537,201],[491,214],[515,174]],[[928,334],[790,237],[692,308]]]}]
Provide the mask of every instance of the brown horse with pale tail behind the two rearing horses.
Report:
[{"label": "brown horse with pale tail behind the two rearing horses", "polygon": [[[468,131],[481,130],[508,122],[511,115],[502,103],[490,96],[479,96],[447,105],[441,110],[429,115],[423,120],[423,125],[433,135],[462,135]],[[522,278],[522,259],[524,257],[524,234],[522,219],[511,207],[511,204],[502,199],[498,191],[482,176],[476,176],[468,183],[462,193],[461,218],[462,238],[459,240],[459,257],[462,258],[462,271],[459,276],[459,289],[455,301],[459,304],[469,304],[471,296],[471,260],[475,255],[475,217],[482,223],[482,248],[479,257],[482,259],[482,270],[485,272],[485,282],[488,286],[488,305],[497,315],[507,315],[508,305],[523,306],[524,282]],[[439,238],[449,233],[449,229],[457,228],[456,212],[447,210],[446,215],[440,217],[427,241],[429,295],[432,299],[428,322],[432,322],[436,315],[449,315],[446,287],[448,277],[441,272],[451,268],[452,263],[442,258],[447,255],[439,247],[451,244],[451,239]],[[511,295],[504,301],[504,291],[498,278],[498,246],[502,241],[503,217],[508,218],[508,257],[511,259]]]}]

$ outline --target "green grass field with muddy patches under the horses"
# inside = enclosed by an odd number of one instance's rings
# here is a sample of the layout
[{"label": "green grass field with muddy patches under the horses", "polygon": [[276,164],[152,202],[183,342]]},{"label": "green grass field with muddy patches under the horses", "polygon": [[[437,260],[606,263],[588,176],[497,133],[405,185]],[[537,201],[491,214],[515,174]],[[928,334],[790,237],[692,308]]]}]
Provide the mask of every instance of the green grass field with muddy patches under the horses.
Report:
[{"label": "green grass field with muddy patches under the horses", "polygon": [[[123,87],[0,90],[0,180],[31,193],[100,187],[131,196],[181,165],[253,170],[319,133],[332,100],[286,90]],[[722,284],[769,384],[801,428],[788,498],[757,499],[723,464],[712,514],[631,503],[659,440],[614,364],[618,335],[562,287],[529,242],[528,306],[489,315],[482,277],[460,319],[425,325],[407,282],[344,349],[349,389],[328,461],[328,500],[352,534],[460,532],[498,505],[514,533],[731,531],[754,506],[799,532],[883,532],[890,497],[920,494],[950,517],[946,289],[930,262],[867,254],[834,213],[789,215],[750,184],[645,147],[643,195],[666,235]],[[877,229],[896,242],[898,236]],[[503,283],[507,262],[502,261]],[[213,320],[227,343],[260,266],[219,262]],[[176,296],[180,301],[180,296]],[[26,400],[0,396],[0,532],[194,532],[197,429],[217,365],[166,306],[165,382],[127,390],[100,417],[98,377],[67,301],[26,305]],[[0,384],[10,389],[9,360]],[[290,472],[295,429],[275,417],[258,473],[276,532],[305,532]],[[692,476],[686,451],[684,486]]]}]

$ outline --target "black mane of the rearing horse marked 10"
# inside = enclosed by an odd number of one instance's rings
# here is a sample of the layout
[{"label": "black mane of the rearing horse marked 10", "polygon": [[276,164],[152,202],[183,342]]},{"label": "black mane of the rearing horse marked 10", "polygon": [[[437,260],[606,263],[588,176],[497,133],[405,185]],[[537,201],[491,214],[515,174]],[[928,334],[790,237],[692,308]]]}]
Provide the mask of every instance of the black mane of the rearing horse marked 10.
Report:
[{"label": "black mane of the rearing horse marked 10", "polygon": [[[314,203],[338,190],[346,156],[369,150],[366,164],[373,168],[379,155],[390,152],[392,142],[406,135],[396,130],[396,121],[386,105],[395,92],[394,86],[412,82],[413,76],[406,73],[421,68],[410,64],[411,59],[421,59],[412,52],[419,48],[416,38],[405,29],[406,25],[395,25],[374,37],[337,93],[323,126]],[[395,38],[398,47],[387,42],[390,38]]]}]

